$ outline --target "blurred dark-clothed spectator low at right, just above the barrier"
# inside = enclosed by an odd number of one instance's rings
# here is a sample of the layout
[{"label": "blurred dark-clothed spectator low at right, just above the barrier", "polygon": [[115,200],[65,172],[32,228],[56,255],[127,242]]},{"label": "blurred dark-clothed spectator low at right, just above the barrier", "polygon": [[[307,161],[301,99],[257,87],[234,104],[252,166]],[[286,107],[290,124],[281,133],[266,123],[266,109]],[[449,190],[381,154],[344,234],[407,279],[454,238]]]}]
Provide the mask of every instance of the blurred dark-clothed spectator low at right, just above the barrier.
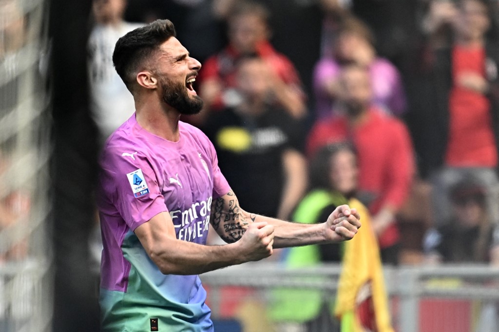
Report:
[{"label": "blurred dark-clothed spectator low at right, just above the barrier", "polygon": [[450,196],[452,217],[425,236],[426,262],[497,264],[499,229],[487,209],[487,187],[470,176],[456,183]]}]

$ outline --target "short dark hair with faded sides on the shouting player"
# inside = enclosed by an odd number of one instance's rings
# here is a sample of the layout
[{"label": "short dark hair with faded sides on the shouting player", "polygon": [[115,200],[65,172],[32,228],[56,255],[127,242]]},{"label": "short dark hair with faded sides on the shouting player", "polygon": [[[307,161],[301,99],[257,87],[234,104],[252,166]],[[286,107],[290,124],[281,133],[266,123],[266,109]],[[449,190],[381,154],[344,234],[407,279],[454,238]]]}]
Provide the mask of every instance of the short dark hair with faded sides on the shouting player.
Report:
[{"label": "short dark hair with faded sides on the shouting player", "polygon": [[168,19],[158,19],[118,39],[114,47],[113,64],[128,90],[131,91],[133,74],[142,61],[155,53],[163,42],[175,36],[173,23]]}]

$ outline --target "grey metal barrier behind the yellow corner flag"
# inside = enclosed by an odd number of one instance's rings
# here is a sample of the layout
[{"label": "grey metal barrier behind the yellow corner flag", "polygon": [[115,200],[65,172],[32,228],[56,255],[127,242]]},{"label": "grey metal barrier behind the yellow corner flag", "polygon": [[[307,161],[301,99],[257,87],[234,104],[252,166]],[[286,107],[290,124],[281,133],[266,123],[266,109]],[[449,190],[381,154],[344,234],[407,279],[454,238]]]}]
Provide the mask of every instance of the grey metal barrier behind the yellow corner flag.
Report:
[{"label": "grey metal barrier behind the yellow corner flag", "polygon": [[[257,262],[212,271],[203,274],[201,279],[209,292],[214,319],[234,319],[236,307],[248,301],[261,308],[269,306],[275,288],[319,290],[329,301],[334,298],[340,271],[339,265],[296,270],[285,269],[277,263]],[[499,303],[499,268],[485,265],[385,266],[384,274],[396,331],[499,331],[499,325],[494,321],[495,303]],[[327,325],[312,330],[332,331]],[[243,331],[256,330],[250,327]]]}]

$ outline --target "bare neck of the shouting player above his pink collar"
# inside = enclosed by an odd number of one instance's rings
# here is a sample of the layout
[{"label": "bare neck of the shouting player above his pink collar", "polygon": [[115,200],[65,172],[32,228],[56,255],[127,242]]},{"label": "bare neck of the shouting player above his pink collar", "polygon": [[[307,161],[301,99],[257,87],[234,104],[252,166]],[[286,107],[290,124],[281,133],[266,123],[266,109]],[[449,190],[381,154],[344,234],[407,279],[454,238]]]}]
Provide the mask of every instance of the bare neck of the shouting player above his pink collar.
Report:
[{"label": "bare neck of the shouting player above his pink collar", "polygon": [[137,123],[156,136],[167,141],[178,142],[180,139],[180,113],[159,99],[135,101]]}]

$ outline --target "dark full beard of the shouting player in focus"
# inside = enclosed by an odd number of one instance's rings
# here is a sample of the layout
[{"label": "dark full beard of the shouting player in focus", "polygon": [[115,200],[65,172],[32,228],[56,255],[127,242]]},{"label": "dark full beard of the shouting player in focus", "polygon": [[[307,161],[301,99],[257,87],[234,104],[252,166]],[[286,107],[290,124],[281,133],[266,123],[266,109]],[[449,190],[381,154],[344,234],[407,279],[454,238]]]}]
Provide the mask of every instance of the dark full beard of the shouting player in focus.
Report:
[{"label": "dark full beard of the shouting player in focus", "polygon": [[159,81],[163,89],[162,100],[166,104],[184,115],[194,115],[201,112],[203,99],[199,96],[190,96],[185,84],[173,82],[164,76],[161,76]]}]

